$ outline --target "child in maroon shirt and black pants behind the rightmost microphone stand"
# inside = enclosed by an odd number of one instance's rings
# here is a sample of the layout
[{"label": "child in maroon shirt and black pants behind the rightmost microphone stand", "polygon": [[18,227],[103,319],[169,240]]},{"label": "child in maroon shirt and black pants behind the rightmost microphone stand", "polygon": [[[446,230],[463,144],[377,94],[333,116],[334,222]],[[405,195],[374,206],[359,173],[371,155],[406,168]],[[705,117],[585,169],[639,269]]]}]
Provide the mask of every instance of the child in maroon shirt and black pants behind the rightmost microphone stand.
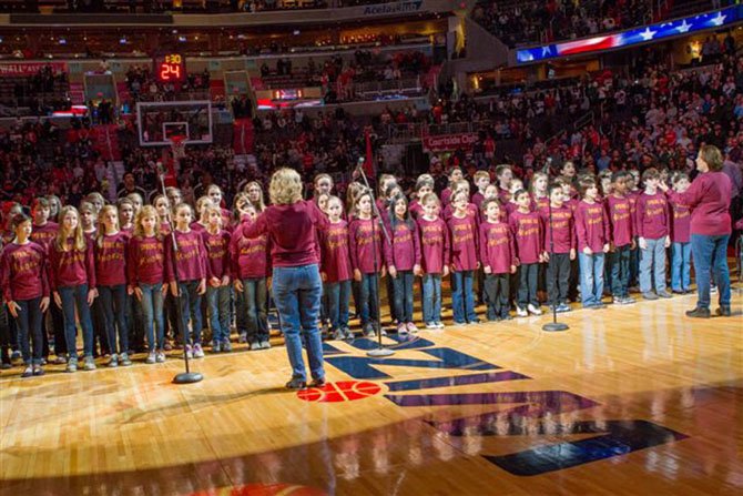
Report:
[{"label": "child in maroon shirt and black pants behind the rightmost microphone stand", "polygon": [[[544,252],[547,265],[547,293],[550,305],[558,312],[570,312],[568,291],[570,287],[570,263],[576,260],[576,229],[573,213],[564,204],[562,186],[556,184],[549,190],[550,205],[541,207],[539,215],[544,225]],[[550,224],[550,209],[552,223]]]}]

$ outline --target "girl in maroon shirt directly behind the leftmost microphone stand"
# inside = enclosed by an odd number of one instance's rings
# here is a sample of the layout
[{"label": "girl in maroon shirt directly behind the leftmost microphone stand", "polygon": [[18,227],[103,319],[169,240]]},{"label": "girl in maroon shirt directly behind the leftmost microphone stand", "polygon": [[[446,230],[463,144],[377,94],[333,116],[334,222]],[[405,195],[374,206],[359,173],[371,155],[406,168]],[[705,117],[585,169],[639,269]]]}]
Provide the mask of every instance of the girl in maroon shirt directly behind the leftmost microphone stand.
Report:
[{"label": "girl in maroon shirt directly behind the leftmost microphone stand", "polygon": [[[165,237],[165,280],[170,284],[171,293],[181,303],[181,325],[186,355],[203,358],[201,297],[206,292],[206,249],[201,234],[190,227],[192,219],[191,205],[181,203],[175,207],[174,236]],[[175,257],[173,257],[173,237],[177,244]],[[189,321],[193,341],[187,331]]]}]

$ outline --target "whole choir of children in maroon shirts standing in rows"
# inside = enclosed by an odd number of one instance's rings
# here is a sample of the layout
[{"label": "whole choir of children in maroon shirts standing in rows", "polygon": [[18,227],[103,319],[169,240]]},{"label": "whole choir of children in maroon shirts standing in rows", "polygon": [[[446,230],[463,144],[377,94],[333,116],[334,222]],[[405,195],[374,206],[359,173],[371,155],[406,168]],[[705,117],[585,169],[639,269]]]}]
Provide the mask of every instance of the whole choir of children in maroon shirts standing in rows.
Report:
[{"label": "whole choir of children in maroon shirts standing in rows", "polygon": [[[477,191],[470,196],[469,182],[455,168],[439,199],[434,179],[423,174],[408,204],[395,178],[385,175],[377,217],[368,190],[350,184],[344,209],[333,195],[330,176],[319,174],[315,201],[329,229],[316,242],[332,337],[354,337],[352,295],[364,335],[384,333],[378,280],[385,276],[390,277],[391,318],[399,334],[418,331],[416,277],[421,279],[423,323],[429,330],[444,327],[441,283],[449,275],[455,325],[480,322],[475,285],[491,322],[512,318],[511,310],[517,316],[540,315],[539,290],[546,290],[550,307],[570,311],[571,280],[579,280],[588,308],[605,306],[604,277],[615,304],[634,303],[629,291],[634,276],[645,300],[671,297],[665,291],[669,247],[671,290],[690,291],[689,207],[659,191],[657,170],[643,172],[641,192],[623,171],[602,175],[600,183],[572,174],[550,184],[546,174],[536,173],[528,190],[508,165],[498,166],[495,179],[491,184],[487,172],[475,173]],[[671,184],[683,192],[689,178],[675,174]],[[74,372],[78,324],[85,370],[95,368],[99,354],[110,355],[111,367],[130,365],[138,325],[149,364],[165,361],[169,337],[177,338],[179,327],[186,354],[203,357],[202,323],[211,330],[213,352],[232,351],[233,322],[251,350],[271,346],[271,249],[265,236],[245,235],[265,209],[261,184],[245,185],[234,199],[234,212],[222,207],[222,191],[210,186],[196,202],[197,220],[179,190],[170,188],[166,194],[154,196],[152,206],[142,205],[135,193],[115,205],[93,193],[79,210],[62,206],[57,215],[53,198],[33,201],[30,216],[17,204],[6,210],[0,289],[26,364],[22,376],[43,374],[50,340],[55,363]],[[639,271],[633,271],[638,249]],[[171,317],[177,314],[171,308],[175,302],[181,322]],[[94,333],[94,323],[103,328]]]}]

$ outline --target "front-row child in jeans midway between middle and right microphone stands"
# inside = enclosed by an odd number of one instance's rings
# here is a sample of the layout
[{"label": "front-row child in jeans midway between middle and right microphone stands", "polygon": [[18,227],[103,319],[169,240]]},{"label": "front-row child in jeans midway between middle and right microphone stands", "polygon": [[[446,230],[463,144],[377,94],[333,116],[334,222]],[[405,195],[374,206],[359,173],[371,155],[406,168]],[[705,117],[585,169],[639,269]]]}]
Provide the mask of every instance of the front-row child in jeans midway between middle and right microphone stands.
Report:
[{"label": "front-row child in jeans midway between middle and right microphone stands", "polygon": [[451,303],[457,325],[480,322],[475,312],[472,293],[472,276],[480,266],[477,256],[478,226],[477,216],[468,212],[468,192],[458,190],[451,196],[454,212],[447,221],[451,240]]}]

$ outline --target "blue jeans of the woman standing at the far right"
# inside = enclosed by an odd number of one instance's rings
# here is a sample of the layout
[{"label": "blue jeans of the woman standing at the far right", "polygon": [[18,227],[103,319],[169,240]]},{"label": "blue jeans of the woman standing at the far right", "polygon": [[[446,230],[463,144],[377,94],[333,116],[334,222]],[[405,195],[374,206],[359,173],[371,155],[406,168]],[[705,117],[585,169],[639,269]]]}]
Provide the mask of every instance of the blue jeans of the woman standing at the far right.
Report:
[{"label": "blue jeans of the woman standing at the far right", "polygon": [[730,307],[730,270],[727,269],[729,234],[719,236],[691,235],[691,253],[696,273],[696,294],[701,308],[710,307],[710,272],[720,292],[720,306]]}]

